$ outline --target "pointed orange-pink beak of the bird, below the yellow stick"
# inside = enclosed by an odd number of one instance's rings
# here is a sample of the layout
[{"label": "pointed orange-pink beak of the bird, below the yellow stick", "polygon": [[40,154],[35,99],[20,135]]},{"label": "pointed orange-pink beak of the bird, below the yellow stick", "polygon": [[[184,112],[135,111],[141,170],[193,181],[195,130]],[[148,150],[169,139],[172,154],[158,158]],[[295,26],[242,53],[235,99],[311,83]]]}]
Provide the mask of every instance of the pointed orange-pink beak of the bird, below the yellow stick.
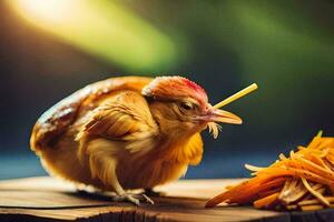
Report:
[{"label": "pointed orange-pink beak of the bird, below the yellow stick", "polygon": [[206,122],[224,122],[224,123],[230,123],[230,124],[242,124],[243,120],[237,117],[236,114],[233,114],[230,112],[227,112],[225,110],[216,109],[212,105],[208,107],[207,111],[204,115],[200,117],[202,120]]}]

